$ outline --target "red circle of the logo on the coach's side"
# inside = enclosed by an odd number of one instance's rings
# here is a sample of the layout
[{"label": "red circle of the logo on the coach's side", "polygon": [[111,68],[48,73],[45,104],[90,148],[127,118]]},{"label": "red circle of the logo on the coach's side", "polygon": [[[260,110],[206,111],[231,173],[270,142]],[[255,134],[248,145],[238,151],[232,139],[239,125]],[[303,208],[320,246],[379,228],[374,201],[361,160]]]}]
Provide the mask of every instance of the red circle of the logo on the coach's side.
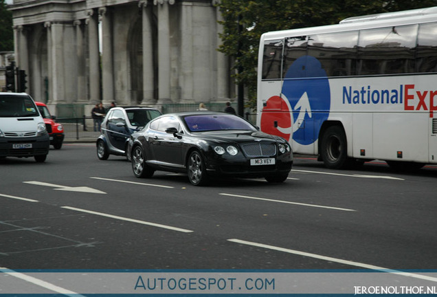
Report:
[{"label": "red circle of the logo on the coach's side", "polygon": [[293,136],[291,124],[289,104],[280,96],[270,97],[266,102],[266,106],[262,108],[261,131],[290,141]]}]

